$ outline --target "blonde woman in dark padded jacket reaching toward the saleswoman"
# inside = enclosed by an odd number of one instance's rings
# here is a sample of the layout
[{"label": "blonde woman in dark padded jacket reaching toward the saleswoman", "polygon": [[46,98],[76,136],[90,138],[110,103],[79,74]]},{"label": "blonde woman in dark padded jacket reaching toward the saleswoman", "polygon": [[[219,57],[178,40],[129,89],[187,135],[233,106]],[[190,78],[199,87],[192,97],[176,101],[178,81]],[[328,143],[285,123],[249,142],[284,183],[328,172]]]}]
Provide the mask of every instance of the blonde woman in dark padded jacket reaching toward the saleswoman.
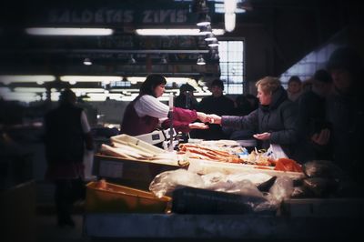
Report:
[{"label": "blonde woman in dark padded jacket reaching toward the saleswoman", "polygon": [[257,110],[248,116],[209,115],[208,118],[223,127],[253,130],[262,148],[277,144],[288,157],[295,158],[294,148],[299,139],[296,104],[288,100],[286,90],[276,77],[266,76],[256,86],[260,103]]}]

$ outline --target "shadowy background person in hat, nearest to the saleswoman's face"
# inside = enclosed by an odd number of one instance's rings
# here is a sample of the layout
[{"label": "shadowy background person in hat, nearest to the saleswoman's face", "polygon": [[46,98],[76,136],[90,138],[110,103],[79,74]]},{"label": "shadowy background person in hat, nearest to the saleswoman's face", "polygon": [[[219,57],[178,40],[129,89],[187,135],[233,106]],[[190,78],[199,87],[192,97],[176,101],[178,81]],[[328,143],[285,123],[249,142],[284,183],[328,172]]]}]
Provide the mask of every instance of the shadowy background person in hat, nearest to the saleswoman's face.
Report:
[{"label": "shadowy background person in hat, nearest to the saleswoman's face", "polygon": [[193,93],[195,87],[189,84],[183,84],[179,87],[179,95],[175,98],[175,106],[186,109],[197,109],[198,102]]}]

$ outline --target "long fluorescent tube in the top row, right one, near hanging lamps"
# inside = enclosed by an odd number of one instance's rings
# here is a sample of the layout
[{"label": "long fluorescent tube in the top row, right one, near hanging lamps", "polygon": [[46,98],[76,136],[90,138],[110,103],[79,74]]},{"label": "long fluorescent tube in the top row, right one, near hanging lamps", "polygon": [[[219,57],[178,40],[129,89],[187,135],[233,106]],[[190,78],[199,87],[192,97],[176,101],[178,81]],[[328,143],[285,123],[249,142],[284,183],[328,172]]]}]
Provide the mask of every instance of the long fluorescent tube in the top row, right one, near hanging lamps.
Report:
[{"label": "long fluorescent tube in the top row, right one, near hanging lamps", "polygon": [[[214,35],[224,35],[224,29],[213,29]],[[140,28],[136,35],[204,35],[197,28]]]}]

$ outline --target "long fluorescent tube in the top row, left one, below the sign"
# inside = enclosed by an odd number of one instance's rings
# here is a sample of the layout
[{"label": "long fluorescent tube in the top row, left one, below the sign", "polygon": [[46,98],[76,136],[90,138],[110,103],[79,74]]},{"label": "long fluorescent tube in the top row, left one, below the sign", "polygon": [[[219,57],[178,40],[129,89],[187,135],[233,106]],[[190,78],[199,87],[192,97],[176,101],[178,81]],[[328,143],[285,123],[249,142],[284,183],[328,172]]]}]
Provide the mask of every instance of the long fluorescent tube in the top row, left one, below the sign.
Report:
[{"label": "long fluorescent tube in the top row, left one, below the sign", "polygon": [[110,28],[73,28],[73,27],[30,27],[28,35],[113,35]]}]

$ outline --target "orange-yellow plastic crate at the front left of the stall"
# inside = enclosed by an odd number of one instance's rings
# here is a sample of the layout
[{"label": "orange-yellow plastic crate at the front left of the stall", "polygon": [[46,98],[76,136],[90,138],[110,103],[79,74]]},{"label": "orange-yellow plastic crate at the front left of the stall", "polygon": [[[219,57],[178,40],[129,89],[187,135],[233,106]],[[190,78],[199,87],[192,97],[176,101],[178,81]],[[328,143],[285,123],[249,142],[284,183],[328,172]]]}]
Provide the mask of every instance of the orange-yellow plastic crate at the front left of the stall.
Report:
[{"label": "orange-yellow plastic crate at the front left of the stall", "polygon": [[106,183],[106,189],[97,188],[97,182],[86,186],[86,212],[165,213],[170,197],[158,198],[152,193]]}]

